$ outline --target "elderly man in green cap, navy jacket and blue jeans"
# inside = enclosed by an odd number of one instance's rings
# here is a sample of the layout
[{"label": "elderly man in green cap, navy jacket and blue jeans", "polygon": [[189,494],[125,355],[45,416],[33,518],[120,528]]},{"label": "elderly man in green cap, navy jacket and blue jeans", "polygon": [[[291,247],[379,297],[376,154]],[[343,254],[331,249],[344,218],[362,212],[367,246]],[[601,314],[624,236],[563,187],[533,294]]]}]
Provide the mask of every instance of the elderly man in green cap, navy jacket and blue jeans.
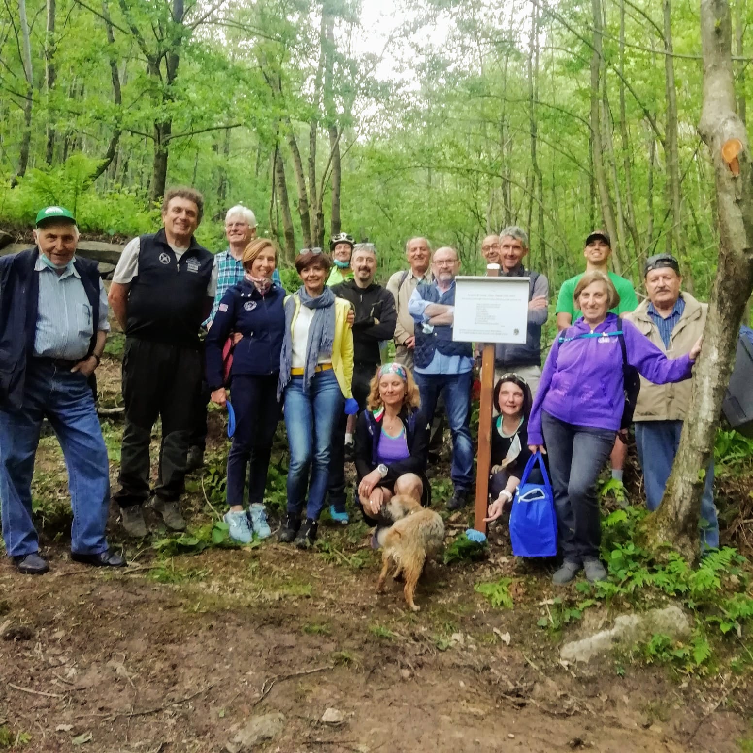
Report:
[{"label": "elderly man in green cap, navy jacket and blue jeans", "polygon": [[5,549],[19,572],[40,575],[31,483],[47,418],[69,474],[71,557],[100,567],[125,560],[105,538],[107,449],[87,379],[110,329],[107,297],[92,261],[75,257],[78,228],[60,206],[41,209],[35,248],[0,258],[0,501]]}]

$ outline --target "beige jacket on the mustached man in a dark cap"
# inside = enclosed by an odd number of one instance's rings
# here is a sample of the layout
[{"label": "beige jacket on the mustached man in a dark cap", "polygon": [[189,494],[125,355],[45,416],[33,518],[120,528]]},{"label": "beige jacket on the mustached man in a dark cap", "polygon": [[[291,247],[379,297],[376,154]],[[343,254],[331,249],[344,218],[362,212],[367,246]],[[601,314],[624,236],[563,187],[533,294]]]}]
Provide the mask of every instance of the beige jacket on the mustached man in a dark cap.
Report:
[{"label": "beige jacket on the mustached man in a dark cap", "polygon": [[[648,316],[648,304],[644,300],[635,311],[624,315],[642,332],[655,346],[660,348],[669,358],[677,358],[690,352],[696,340],[703,334],[706,325],[708,303],[700,303],[690,293],[680,293],[685,302],[685,308],[672,330],[669,348],[659,335],[659,330],[651,316]],[[641,377],[641,392],[633,419],[636,421],[682,421],[687,415],[687,407],[691,402],[692,380],[685,380],[676,384],[653,384]]]}]

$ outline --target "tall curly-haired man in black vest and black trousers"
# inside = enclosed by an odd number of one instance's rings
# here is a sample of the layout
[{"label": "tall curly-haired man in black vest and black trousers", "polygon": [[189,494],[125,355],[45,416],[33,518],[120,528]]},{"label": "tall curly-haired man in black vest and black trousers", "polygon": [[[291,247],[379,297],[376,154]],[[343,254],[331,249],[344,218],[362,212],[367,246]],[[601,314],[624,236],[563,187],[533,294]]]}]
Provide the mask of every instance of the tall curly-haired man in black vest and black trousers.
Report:
[{"label": "tall curly-haired man in black vest and black trousers", "polygon": [[162,445],[154,509],[168,528],[185,528],[178,498],[203,374],[199,331],[217,287],[215,258],[194,239],[203,206],[193,188],[168,191],[164,227],[123,248],[110,287],[110,305],[126,334],[126,421],[115,498],[123,528],[137,538],[146,535],[142,505],[149,497],[149,439],[157,416]]}]

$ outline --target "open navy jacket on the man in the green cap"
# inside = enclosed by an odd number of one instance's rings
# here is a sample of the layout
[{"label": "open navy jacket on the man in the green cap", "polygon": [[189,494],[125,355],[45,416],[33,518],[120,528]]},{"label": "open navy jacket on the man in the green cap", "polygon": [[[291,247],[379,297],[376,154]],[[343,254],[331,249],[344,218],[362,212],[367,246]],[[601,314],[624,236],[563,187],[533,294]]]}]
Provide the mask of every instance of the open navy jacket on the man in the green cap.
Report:
[{"label": "open navy jacket on the man in the green cap", "polygon": [[[0,257],[0,407],[18,410],[23,404],[26,361],[34,355],[39,303],[39,274],[34,267],[39,249]],[[99,322],[99,267],[95,261],[76,257],[92,307],[92,321]],[[96,327],[89,352],[96,343]]]}]

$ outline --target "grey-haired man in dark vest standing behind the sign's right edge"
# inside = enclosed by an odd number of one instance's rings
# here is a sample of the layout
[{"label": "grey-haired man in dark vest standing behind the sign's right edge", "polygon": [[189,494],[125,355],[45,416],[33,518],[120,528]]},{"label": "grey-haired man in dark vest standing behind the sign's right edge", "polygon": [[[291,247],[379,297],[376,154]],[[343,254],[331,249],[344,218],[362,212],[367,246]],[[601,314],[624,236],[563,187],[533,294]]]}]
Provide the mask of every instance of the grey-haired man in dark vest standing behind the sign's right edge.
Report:
[{"label": "grey-haired man in dark vest standing behind the sign's right edge", "polygon": [[528,234],[515,225],[499,233],[499,261],[501,276],[529,277],[528,337],[525,345],[501,345],[494,352],[494,383],[502,374],[517,373],[523,377],[535,396],[541,380],[541,328],[549,311],[549,281],[547,278],[523,267],[523,257],[528,253]]}]

